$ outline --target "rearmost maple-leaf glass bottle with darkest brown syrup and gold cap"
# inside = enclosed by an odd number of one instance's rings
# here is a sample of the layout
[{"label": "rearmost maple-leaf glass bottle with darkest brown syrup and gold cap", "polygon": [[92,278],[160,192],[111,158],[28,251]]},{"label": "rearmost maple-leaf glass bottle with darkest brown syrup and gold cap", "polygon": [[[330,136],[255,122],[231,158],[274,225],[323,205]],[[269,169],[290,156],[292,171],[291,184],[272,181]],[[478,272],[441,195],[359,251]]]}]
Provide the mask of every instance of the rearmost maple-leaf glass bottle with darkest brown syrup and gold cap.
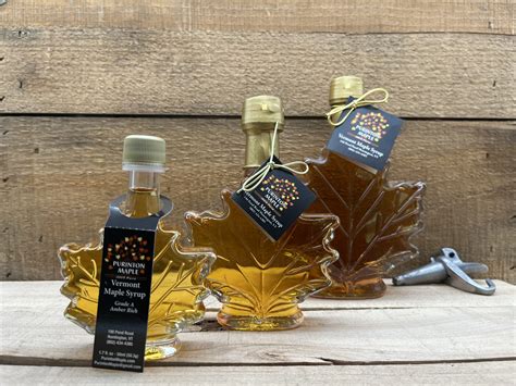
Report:
[{"label": "rearmost maple-leaf glass bottle with darkest brown syrup and gold cap", "polygon": [[[345,104],[349,97],[361,95],[359,77],[337,77],[331,83],[330,104]],[[422,226],[425,184],[388,182],[389,163],[376,172],[327,148],[306,163],[310,171],[305,180],[318,196],[309,211],[334,213],[341,220],[332,241],[340,257],[329,267],[333,283],[316,296],[383,296],[385,271],[418,253],[409,239]]]}]

